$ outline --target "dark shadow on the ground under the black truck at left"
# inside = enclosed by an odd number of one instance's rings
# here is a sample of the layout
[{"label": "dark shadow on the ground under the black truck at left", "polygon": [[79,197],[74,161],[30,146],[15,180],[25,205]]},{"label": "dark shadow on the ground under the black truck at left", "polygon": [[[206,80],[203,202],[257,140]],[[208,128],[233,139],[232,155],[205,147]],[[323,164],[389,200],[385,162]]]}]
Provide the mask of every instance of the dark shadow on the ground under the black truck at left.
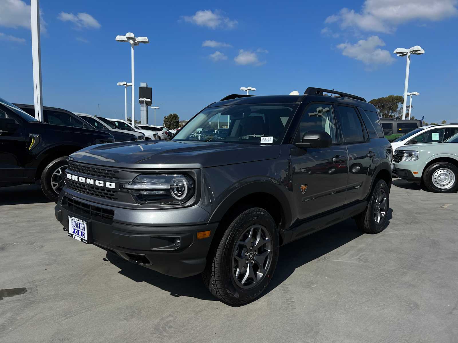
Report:
[{"label": "dark shadow on the ground under the black truck at left", "polygon": [[38,185],[0,188],[0,205],[50,203]]}]

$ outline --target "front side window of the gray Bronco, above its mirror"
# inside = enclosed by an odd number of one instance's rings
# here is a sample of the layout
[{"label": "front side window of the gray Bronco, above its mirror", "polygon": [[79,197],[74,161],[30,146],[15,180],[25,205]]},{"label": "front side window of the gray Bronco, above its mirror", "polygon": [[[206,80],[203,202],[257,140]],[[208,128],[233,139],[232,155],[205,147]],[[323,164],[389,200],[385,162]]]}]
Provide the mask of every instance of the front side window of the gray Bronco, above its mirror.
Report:
[{"label": "front side window of the gray Bronco, above its mirror", "polygon": [[307,107],[300,119],[300,136],[296,140],[300,141],[307,131],[324,131],[331,136],[333,143],[337,143],[333,106],[329,104],[311,104]]}]

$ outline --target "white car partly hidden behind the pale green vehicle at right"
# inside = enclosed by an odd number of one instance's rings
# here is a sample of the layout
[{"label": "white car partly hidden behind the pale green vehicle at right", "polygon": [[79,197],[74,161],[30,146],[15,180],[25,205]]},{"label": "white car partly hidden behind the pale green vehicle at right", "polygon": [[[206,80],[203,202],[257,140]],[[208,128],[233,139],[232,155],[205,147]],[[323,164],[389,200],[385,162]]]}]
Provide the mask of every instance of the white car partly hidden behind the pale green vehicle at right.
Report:
[{"label": "white car partly hidden behind the pale green vehicle at right", "polygon": [[425,125],[393,139],[393,151],[403,145],[442,142],[458,132],[458,124]]}]

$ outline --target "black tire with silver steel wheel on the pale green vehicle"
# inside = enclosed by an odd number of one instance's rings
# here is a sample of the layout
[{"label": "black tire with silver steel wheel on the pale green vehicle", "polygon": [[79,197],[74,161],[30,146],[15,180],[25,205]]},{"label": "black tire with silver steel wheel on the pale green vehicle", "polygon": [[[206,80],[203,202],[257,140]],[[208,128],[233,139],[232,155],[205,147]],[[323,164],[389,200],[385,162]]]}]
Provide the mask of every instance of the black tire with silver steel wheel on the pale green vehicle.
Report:
[{"label": "black tire with silver steel wheel on the pale green vehicle", "polygon": [[[439,179],[441,176],[444,182]],[[425,169],[422,178],[423,184],[431,192],[453,193],[458,190],[458,168],[452,163],[433,163]]]}]

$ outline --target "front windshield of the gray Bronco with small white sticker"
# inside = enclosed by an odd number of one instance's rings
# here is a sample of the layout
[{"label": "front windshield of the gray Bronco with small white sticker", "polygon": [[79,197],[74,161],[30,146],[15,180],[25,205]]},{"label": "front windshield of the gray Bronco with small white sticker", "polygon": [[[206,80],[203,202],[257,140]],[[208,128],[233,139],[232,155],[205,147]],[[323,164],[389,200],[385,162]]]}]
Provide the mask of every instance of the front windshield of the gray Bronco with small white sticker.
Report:
[{"label": "front windshield of the gray Bronco with small white sticker", "polygon": [[[210,107],[197,114],[173,140],[280,144],[297,104]],[[226,129],[222,130],[221,129]]]}]

